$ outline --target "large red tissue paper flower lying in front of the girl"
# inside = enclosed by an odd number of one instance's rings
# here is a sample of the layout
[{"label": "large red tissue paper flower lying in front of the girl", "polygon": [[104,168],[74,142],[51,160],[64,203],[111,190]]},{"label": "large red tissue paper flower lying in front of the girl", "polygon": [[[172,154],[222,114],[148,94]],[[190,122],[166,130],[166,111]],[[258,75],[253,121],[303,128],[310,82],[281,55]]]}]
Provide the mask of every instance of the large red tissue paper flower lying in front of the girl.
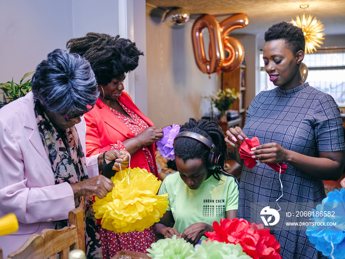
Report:
[{"label": "large red tissue paper flower lying in front of the girl", "polygon": [[207,241],[240,244],[243,252],[253,259],[281,259],[280,244],[270,228],[244,219],[221,219],[213,222],[213,232],[206,232]]}]

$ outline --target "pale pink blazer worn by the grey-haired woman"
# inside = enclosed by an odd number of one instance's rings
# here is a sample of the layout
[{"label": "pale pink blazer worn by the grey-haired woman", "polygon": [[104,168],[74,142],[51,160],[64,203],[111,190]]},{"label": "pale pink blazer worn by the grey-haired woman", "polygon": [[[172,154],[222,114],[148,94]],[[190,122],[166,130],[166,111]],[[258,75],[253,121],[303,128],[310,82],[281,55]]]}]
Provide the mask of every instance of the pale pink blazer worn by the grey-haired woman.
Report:
[{"label": "pale pink blazer worn by the grey-haired woman", "polygon": [[[76,125],[85,150],[84,119]],[[86,160],[89,177],[99,174],[97,156]],[[39,136],[33,93],[29,92],[0,109],[0,217],[14,213],[19,230],[0,236],[0,248],[7,254],[53,221],[68,219],[75,208],[68,183],[55,185],[51,163]]]}]

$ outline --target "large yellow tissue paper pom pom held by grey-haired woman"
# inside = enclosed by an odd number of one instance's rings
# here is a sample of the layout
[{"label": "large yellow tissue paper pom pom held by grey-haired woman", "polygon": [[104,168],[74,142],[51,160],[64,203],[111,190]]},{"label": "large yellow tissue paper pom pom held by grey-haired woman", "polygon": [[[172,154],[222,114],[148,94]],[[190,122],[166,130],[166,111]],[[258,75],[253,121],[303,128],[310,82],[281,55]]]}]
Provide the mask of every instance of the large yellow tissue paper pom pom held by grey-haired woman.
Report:
[{"label": "large yellow tissue paper pom pom held by grey-haired woman", "polygon": [[117,172],[111,181],[113,189],[102,199],[95,197],[93,205],[103,228],[115,233],[140,232],[163,217],[168,194],[156,195],[162,181],[152,173],[139,167],[127,168]]}]

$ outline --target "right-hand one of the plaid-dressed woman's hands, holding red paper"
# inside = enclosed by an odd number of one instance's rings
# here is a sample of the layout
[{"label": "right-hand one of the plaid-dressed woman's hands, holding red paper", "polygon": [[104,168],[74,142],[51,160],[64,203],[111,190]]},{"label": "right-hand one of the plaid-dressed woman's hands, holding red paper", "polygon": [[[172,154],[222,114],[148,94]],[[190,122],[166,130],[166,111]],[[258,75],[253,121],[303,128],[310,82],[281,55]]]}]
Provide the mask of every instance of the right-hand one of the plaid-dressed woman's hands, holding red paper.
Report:
[{"label": "right-hand one of the plaid-dressed woman's hands, holding red paper", "polygon": [[272,142],[251,148],[252,158],[260,163],[282,163],[288,161],[288,154],[285,148]]}]

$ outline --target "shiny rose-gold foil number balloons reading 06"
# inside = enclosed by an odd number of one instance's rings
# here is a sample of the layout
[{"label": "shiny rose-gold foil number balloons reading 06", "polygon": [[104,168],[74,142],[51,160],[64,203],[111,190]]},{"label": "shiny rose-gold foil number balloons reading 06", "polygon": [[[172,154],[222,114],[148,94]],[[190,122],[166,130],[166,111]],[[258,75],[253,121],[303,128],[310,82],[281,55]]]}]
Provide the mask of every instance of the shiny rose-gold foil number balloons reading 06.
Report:
[{"label": "shiny rose-gold foil number balloons reading 06", "polygon": [[[194,56],[198,68],[205,74],[230,72],[240,67],[244,50],[241,42],[228,37],[235,29],[243,28],[248,24],[248,16],[244,13],[231,16],[220,24],[212,15],[205,14],[199,17],[193,25],[192,41]],[[203,31],[209,32],[209,48],[207,60],[203,40]],[[228,54],[225,57],[225,52]]]}]

